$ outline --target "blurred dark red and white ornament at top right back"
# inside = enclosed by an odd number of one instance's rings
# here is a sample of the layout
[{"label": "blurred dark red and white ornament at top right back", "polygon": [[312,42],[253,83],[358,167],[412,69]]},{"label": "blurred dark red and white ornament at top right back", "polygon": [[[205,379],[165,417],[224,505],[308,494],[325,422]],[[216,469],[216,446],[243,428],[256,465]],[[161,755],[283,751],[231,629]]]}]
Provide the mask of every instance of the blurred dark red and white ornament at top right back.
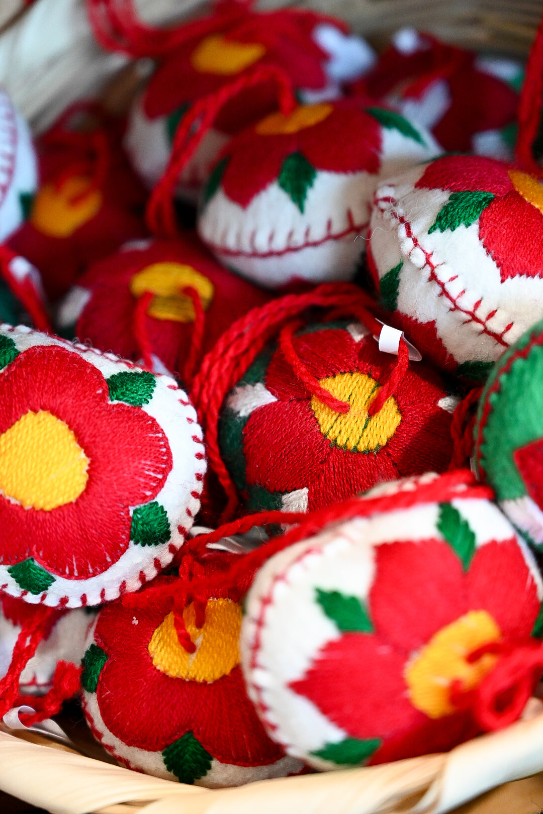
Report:
[{"label": "blurred dark red and white ornament at top right back", "polygon": [[523,68],[402,28],[354,93],[426,127],[446,151],[513,159]]}]

